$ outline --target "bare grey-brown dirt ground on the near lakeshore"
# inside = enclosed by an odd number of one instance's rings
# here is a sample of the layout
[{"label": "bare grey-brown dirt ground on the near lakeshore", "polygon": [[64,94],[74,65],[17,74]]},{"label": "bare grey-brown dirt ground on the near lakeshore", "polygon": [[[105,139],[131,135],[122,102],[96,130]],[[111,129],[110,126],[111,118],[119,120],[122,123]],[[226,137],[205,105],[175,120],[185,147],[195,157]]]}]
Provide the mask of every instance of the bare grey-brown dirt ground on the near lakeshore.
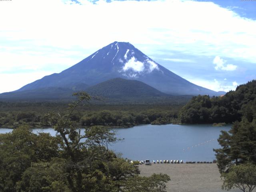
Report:
[{"label": "bare grey-brown dirt ground on the near lakeshore", "polygon": [[[225,192],[216,164],[152,164],[139,165],[141,176],[168,174],[168,192]],[[231,192],[240,192],[239,189]]]}]

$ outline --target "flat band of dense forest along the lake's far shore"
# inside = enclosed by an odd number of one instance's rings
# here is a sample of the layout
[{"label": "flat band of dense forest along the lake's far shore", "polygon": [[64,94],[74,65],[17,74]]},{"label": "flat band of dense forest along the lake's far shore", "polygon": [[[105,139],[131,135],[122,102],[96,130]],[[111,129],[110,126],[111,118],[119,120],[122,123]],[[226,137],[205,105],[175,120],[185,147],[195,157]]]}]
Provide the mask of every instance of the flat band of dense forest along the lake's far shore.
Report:
[{"label": "flat band of dense forest along the lake's far shore", "polygon": [[[78,106],[72,120],[80,127],[103,125],[132,127],[138,124],[169,124],[178,122],[178,112],[184,104],[85,104]],[[56,102],[1,102],[0,127],[17,128],[22,124],[50,127],[51,112],[67,110],[68,103]]]}]

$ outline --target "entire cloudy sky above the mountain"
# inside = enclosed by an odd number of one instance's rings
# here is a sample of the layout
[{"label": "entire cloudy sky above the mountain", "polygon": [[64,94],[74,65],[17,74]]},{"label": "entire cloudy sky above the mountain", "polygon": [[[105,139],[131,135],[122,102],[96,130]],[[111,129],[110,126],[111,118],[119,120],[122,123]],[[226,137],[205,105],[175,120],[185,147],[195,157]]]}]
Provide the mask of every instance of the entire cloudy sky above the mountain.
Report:
[{"label": "entire cloudy sky above the mountain", "polygon": [[0,1],[0,93],[130,42],[212,90],[256,79],[256,1]]}]

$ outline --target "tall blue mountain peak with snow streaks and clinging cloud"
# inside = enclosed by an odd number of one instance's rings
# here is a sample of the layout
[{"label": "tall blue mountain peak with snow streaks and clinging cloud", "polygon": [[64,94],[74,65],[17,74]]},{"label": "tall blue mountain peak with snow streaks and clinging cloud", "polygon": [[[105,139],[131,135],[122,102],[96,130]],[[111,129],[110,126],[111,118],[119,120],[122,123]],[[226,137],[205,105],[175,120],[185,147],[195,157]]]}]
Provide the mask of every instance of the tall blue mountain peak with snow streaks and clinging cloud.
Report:
[{"label": "tall blue mountain peak with snow streaks and clinging cloud", "polygon": [[173,95],[223,94],[181,78],[128,42],[113,42],[74,66],[27,84],[16,92],[54,87],[80,87],[84,90],[112,78],[142,81],[161,92]]}]

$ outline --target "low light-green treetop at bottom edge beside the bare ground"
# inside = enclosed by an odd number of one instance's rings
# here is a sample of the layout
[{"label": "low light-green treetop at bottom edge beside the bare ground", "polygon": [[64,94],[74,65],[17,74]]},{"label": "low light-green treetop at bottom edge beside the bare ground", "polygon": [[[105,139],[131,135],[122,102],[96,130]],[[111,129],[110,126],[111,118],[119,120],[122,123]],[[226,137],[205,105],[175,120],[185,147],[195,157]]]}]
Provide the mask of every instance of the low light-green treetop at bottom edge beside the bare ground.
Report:
[{"label": "low light-green treetop at bottom edge beside the bare ground", "polygon": [[128,180],[124,192],[165,192],[166,182],[170,177],[166,174],[153,174],[150,177],[135,176]]}]

